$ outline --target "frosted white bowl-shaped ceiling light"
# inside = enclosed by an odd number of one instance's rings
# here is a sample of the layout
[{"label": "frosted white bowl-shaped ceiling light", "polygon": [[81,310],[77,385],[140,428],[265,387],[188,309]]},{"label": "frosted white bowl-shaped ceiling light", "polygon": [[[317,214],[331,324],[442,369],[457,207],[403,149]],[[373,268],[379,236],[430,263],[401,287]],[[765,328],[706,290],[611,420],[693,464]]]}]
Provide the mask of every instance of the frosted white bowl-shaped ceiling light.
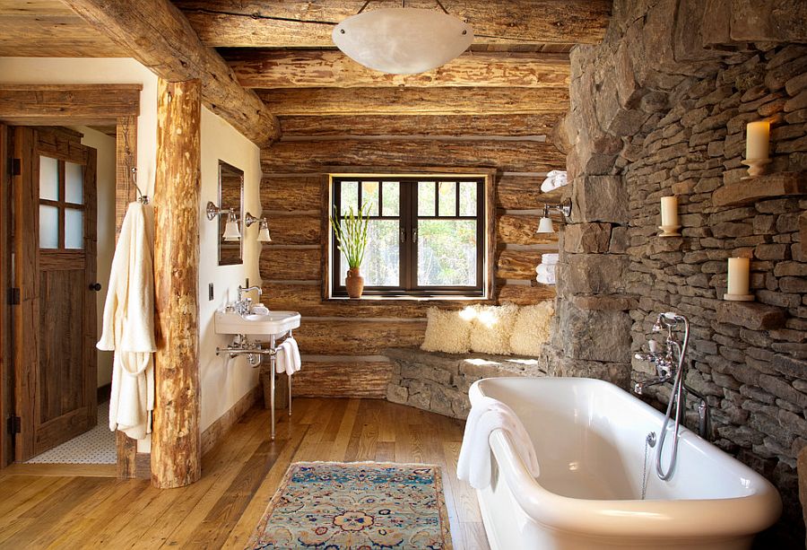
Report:
[{"label": "frosted white bowl-shaped ceiling light", "polygon": [[473,30],[436,0],[436,10],[383,8],[348,17],[334,28],[334,44],[353,61],[389,74],[418,74],[444,65],[473,42]]}]

